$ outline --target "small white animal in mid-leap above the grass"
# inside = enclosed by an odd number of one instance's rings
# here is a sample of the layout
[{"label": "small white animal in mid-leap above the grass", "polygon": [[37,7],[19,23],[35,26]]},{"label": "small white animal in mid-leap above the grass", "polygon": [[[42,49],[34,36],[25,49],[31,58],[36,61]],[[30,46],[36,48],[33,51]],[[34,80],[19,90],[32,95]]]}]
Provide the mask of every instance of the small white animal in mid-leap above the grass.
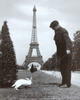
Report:
[{"label": "small white animal in mid-leap above the grass", "polygon": [[12,87],[18,90],[18,88],[21,86],[29,86],[31,84],[32,84],[32,77],[26,79],[19,79],[12,85]]}]

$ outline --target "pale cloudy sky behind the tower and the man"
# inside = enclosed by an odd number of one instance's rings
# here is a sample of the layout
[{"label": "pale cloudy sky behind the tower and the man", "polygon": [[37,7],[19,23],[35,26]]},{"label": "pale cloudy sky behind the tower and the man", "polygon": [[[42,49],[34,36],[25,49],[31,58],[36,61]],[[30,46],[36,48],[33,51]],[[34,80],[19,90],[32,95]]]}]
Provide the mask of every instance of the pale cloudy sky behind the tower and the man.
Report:
[{"label": "pale cloudy sky behind the tower and the man", "polygon": [[49,28],[53,20],[58,20],[68,30],[71,40],[80,30],[80,0],[0,0],[0,30],[6,20],[19,65],[23,64],[29,51],[34,5],[37,38],[44,61],[56,52],[54,31]]}]

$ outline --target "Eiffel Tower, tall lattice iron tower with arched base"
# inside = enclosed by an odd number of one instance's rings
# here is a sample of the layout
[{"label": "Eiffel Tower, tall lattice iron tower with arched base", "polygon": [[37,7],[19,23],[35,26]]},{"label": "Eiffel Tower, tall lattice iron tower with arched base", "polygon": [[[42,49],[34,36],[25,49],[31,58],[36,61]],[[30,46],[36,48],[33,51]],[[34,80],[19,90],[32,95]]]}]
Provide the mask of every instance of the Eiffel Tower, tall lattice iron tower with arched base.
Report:
[{"label": "Eiffel Tower, tall lattice iron tower with arched base", "polygon": [[[26,59],[23,63],[24,68],[27,68],[28,64],[31,62],[37,62],[41,66],[44,64],[42,56],[39,51],[39,44],[37,42],[37,30],[36,30],[36,7],[33,8],[33,28],[32,28],[32,37],[31,37],[31,44],[29,48],[29,52],[26,56]],[[33,50],[36,50],[36,56],[32,56]]]}]

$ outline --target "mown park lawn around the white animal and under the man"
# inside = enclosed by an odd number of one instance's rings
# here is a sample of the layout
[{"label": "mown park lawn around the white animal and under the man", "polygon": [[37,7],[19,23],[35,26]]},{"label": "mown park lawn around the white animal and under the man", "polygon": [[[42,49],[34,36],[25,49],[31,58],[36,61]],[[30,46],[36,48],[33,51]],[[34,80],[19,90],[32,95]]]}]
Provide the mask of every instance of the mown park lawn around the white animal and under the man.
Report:
[{"label": "mown park lawn around the white animal and under the man", "polygon": [[80,88],[60,88],[61,80],[47,75],[41,71],[30,73],[19,70],[18,79],[33,77],[33,84],[19,90],[14,88],[1,88],[0,100],[76,100],[80,99]]}]

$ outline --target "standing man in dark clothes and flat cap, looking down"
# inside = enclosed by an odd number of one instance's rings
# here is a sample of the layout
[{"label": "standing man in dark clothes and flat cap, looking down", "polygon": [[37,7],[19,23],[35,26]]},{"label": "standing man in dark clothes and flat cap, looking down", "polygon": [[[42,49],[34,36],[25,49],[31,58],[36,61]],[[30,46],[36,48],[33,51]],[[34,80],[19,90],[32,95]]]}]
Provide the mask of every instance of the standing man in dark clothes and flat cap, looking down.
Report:
[{"label": "standing man in dark clothes and flat cap, looking down", "polygon": [[57,20],[50,24],[50,28],[55,31],[55,44],[57,47],[57,58],[60,61],[60,71],[62,75],[62,83],[59,85],[67,87],[71,86],[71,59],[72,59],[72,42],[66,29],[59,25]]}]

